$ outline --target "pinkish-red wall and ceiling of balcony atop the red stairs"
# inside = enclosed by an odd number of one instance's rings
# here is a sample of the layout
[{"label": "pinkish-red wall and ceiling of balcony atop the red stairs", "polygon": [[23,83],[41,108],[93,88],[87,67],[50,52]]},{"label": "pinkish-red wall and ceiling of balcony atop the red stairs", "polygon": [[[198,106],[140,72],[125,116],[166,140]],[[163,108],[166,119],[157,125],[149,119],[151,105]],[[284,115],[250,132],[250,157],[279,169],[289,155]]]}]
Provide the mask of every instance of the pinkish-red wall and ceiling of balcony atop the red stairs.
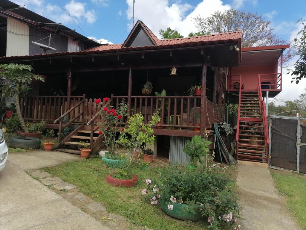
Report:
[{"label": "pinkish-red wall and ceiling of balcony atop the red stairs", "polygon": [[[241,81],[244,85],[244,89],[246,90],[255,90],[258,86],[258,74],[269,74],[269,73],[277,73],[277,63],[274,65],[259,65],[259,66],[238,66],[231,68],[231,75],[241,75]],[[235,76],[235,78],[237,78]],[[277,78],[277,75],[261,75],[260,79],[263,81],[264,79]],[[276,80],[267,80],[267,82],[271,82],[272,84],[276,84]],[[242,85],[241,84],[241,85]],[[276,86],[272,88],[276,89]]]}]

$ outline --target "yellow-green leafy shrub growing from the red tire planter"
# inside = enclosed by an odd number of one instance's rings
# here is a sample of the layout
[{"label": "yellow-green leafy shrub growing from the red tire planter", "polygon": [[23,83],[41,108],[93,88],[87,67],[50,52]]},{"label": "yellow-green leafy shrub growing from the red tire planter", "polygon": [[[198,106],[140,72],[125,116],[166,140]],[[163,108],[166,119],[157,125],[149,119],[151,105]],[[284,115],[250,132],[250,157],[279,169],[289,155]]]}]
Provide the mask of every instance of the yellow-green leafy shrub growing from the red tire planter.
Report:
[{"label": "yellow-green leafy shrub growing from the red tire planter", "polygon": [[141,113],[136,113],[129,117],[127,128],[124,132],[120,132],[120,136],[117,140],[118,144],[121,144],[124,150],[127,151],[127,162],[124,164],[124,171],[127,171],[132,163],[133,156],[141,146],[146,144],[152,144],[155,136],[152,125],[155,125],[160,119],[158,114],[153,114],[152,120],[144,124],[144,117]]}]

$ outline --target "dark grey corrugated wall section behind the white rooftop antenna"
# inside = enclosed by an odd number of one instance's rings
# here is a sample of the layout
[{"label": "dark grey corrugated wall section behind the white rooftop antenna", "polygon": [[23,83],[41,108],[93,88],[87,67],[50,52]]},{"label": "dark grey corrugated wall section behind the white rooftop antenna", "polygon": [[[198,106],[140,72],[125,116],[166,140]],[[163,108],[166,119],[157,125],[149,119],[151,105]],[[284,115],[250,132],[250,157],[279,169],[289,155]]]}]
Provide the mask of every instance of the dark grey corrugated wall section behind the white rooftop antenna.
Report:
[{"label": "dark grey corrugated wall section behind the white rooftop antenna", "polygon": [[[47,31],[37,28],[35,26],[29,25],[29,55],[35,55],[35,54],[41,54],[43,53],[43,49],[39,47],[39,45],[33,44],[31,41],[37,41],[39,39],[42,39],[44,37],[47,37],[50,35]],[[52,34],[52,41],[50,42],[50,46],[53,48],[56,48],[55,50],[47,50],[46,53],[57,53],[57,52],[67,52],[67,46],[68,46],[68,38],[66,36],[60,35],[60,34]],[[41,44],[48,45],[49,38],[43,39],[38,41]]]}]

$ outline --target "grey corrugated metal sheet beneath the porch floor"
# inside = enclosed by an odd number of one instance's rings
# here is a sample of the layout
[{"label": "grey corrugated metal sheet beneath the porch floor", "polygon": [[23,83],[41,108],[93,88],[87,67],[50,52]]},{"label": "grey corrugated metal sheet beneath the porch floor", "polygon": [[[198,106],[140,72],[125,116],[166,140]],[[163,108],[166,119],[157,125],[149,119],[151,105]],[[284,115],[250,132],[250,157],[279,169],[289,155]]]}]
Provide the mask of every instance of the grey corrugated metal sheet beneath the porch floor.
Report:
[{"label": "grey corrugated metal sheet beneath the porch floor", "polygon": [[183,166],[185,166],[185,164],[189,164],[190,157],[183,152],[183,148],[185,148],[187,140],[191,140],[191,137],[170,137],[170,161],[173,163],[180,163]]}]

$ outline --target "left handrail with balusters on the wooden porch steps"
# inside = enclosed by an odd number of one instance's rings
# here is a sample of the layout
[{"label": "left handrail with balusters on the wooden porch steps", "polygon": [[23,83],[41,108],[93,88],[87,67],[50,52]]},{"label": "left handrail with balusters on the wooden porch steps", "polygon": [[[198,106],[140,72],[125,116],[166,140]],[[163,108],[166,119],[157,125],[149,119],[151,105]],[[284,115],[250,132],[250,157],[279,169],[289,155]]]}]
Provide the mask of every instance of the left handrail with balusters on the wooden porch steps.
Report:
[{"label": "left handrail with balusters on the wooden porch steps", "polygon": [[[54,124],[59,122],[58,142],[60,142],[60,140],[62,139],[62,130],[66,128],[68,125],[72,124],[73,122],[76,122],[78,119],[81,119],[81,125],[84,124],[85,120],[84,111],[85,111],[85,94],[83,94],[83,99],[80,102],[75,104],[71,109],[69,109],[67,112],[62,114],[62,116],[58,117],[56,120],[53,121]],[[69,117],[69,121],[63,124],[63,119],[65,116]]]}]

